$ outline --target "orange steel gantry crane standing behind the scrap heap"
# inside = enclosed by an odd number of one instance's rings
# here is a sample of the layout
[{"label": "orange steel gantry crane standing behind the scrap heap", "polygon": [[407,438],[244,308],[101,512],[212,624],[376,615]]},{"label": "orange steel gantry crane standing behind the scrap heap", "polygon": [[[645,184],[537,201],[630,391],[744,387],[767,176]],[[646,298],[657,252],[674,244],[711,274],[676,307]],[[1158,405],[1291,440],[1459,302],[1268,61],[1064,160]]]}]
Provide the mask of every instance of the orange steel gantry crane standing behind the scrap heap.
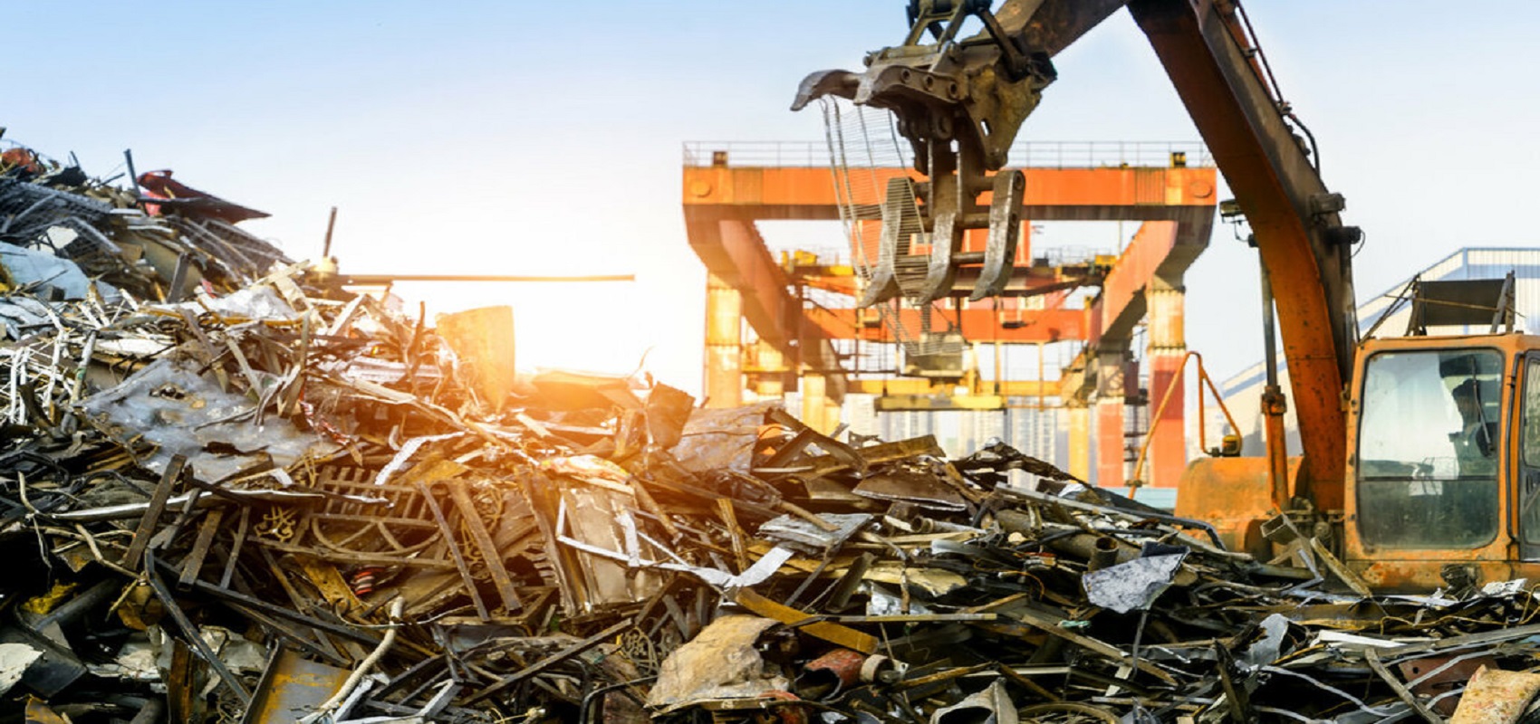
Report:
[{"label": "orange steel gantry crane standing behind the scrap heap", "polygon": [[[1192,148],[1195,144],[1187,144]],[[1066,163],[1029,166],[1024,174],[1021,240],[1015,271],[1001,297],[967,301],[970,274],[962,269],[950,295],[935,303],[938,317],[967,341],[990,344],[1084,343],[1076,364],[1058,381],[995,383],[992,398],[1058,397],[1069,407],[1070,472],[1090,480],[1090,438],[1096,438],[1095,478],[1124,484],[1124,407],[1137,387],[1130,344],[1147,321],[1149,398],[1161,400],[1186,354],[1183,274],[1209,243],[1217,208],[1217,175],[1201,148],[1169,152],[1170,144],[1090,144]],[[1161,163],[1129,164],[1127,158]],[[824,158],[822,163],[819,160]],[[711,406],[736,406],[753,386],[759,395],[802,392],[802,418],[822,430],[838,424],[845,392],[884,395],[879,409],[924,409],[933,380],[855,377],[836,340],[895,343],[893,326],[921,327],[921,309],[892,307],[884,315],[859,307],[849,266],[821,264],[805,255],[784,260],[765,246],[761,220],[839,220],[841,203],[881,203],[876,191],[836,192],[836,171],[819,144],[690,143],[685,146],[682,203],[691,249],[707,269],[705,395]],[[1194,163],[1187,163],[1192,158]],[[878,169],[909,175],[910,168]],[[870,184],[870,189],[882,183]],[[847,194],[849,195],[849,194]],[[1124,251],[1110,260],[1052,264],[1033,257],[1030,221],[1141,221]],[[879,224],[879,221],[861,221]],[[865,241],[862,241],[862,238]],[[875,234],[852,235],[852,258],[872,257]],[[862,247],[865,244],[865,247]],[[967,234],[962,255],[981,255],[983,234]],[[929,254],[915,249],[913,255]],[[1095,300],[1076,309],[1058,304],[1081,286],[1098,286]],[[841,292],[844,306],[810,303],[805,289]],[[1049,303],[1029,304],[1038,297]],[[827,298],[827,295],[825,295]],[[744,321],[753,341],[745,344]],[[942,384],[955,384],[947,380]],[[1163,410],[1149,446],[1147,481],[1173,487],[1186,463],[1184,406],[1180,387]]]}]

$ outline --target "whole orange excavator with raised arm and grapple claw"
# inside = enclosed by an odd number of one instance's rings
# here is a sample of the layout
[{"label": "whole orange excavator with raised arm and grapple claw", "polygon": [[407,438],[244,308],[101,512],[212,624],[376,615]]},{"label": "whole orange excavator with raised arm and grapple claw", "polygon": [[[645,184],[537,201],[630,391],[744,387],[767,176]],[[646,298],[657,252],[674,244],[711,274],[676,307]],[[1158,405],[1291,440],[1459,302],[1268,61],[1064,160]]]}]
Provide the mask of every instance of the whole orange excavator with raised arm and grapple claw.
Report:
[{"label": "whole orange excavator with raised arm and grapple claw", "polygon": [[[1491,334],[1360,340],[1352,251],[1363,234],[1343,224],[1346,201],[1321,181],[1314,137],[1281,100],[1238,0],[992,5],[910,0],[902,43],[798,89],[793,111],[825,95],[890,111],[922,177],[887,188],[862,303],[952,295],[966,266],[981,267],[975,295],[1009,280],[1023,197],[1007,151],[1056,80],[1053,55],[1127,8],[1250,226],[1269,297],[1266,455],[1192,461],[1177,515],[1215,524],[1234,549],[1321,552],[1380,592],[1540,575],[1540,338],[1512,330],[1511,306],[1454,301],[1426,309],[1481,309]],[[983,254],[962,251],[967,229],[987,229]],[[930,249],[910,254],[918,234]],[[902,274],[909,284],[893,281]],[[1297,457],[1284,449],[1274,329]]]}]

